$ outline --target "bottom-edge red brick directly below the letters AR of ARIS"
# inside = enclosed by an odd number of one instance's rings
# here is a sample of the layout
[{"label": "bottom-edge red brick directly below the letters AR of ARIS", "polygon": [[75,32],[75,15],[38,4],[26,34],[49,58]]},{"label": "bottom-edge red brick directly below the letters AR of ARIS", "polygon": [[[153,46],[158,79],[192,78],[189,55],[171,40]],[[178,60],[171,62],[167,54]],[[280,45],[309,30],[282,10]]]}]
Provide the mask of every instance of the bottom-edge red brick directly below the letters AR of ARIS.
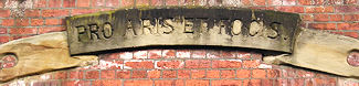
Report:
[{"label": "bottom-edge red brick directly below the letters AR of ARIS", "polygon": [[152,86],[154,82],[151,79],[131,79],[125,80],[124,86]]}]

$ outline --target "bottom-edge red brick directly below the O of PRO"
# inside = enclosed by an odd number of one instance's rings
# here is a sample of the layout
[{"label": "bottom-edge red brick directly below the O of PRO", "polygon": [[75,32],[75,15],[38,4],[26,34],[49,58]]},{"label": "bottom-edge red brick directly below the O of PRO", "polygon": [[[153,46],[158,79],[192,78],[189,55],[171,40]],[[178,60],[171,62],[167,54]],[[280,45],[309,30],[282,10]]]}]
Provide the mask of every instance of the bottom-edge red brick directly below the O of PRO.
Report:
[{"label": "bottom-edge red brick directly below the O of PRO", "polygon": [[92,86],[120,86],[122,79],[96,79]]}]

